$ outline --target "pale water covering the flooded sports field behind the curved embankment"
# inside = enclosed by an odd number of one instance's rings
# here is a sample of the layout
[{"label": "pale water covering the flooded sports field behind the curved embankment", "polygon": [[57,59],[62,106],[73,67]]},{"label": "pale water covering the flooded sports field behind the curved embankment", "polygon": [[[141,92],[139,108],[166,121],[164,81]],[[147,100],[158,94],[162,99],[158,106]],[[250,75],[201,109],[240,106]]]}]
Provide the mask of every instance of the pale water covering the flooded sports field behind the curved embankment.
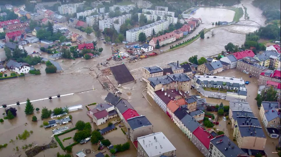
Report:
[{"label": "pale water covering the flooded sports field behind the curved embankment", "polygon": [[212,23],[218,21],[232,22],[235,11],[221,8],[198,8],[191,17],[201,18],[202,23]]}]

